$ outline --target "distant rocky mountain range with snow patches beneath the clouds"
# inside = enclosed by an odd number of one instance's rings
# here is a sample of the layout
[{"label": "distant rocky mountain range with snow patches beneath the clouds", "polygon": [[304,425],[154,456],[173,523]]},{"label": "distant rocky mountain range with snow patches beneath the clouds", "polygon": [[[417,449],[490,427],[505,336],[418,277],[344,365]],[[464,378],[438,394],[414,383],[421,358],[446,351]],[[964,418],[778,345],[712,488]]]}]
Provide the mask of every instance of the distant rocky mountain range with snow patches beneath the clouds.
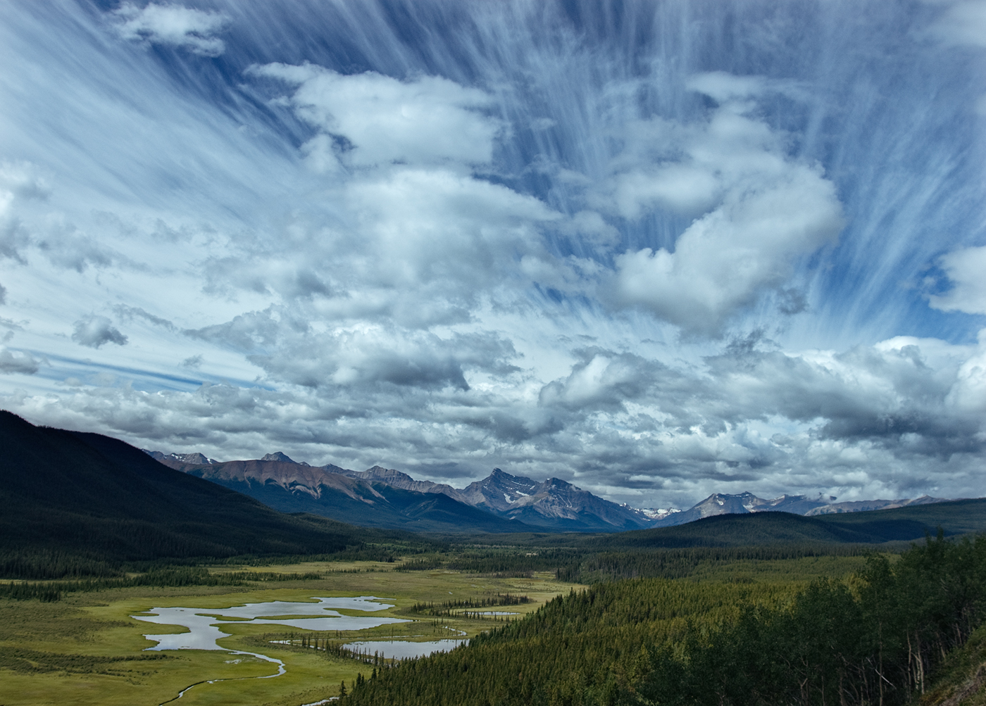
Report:
[{"label": "distant rocky mountain range with snow patches beneath the clouds", "polygon": [[688,510],[638,509],[599,498],[560,478],[544,481],[500,468],[464,488],[416,480],[375,465],[350,470],[313,466],[282,452],[261,459],[217,461],[202,454],[147,454],[177,470],[242,492],[281,512],[308,512],[346,523],[416,531],[621,531],[685,525],[718,515],[782,512],[816,516],[943,502],[915,500],[836,503],[833,497],[714,493]]}]

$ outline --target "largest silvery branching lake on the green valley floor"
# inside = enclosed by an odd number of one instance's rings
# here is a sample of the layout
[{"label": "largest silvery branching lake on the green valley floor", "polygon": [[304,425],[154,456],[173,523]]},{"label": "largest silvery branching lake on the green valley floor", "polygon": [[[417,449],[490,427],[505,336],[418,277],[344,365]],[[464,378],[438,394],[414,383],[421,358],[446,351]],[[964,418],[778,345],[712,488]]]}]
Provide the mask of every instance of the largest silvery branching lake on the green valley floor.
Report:
[{"label": "largest silvery branching lake on the green valley floor", "polygon": [[[342,615],[332,608],[373,612],[393,607],[390,603],[378,602],[376,596],[359,598],[313,598],[316,602],[270,600],[261,603],[246,603],[229,608],[171,607],[151,608],[147,612],[154,615],[131,615],[137,620],[159,625],[181,625],[188,632],[176,635],[144,635],[158,644],[147,648],[160,650],[225,650],[216,640],[228,637],[224,624],[249,622],[250,624],[279,625],[305,630],[363,630],[408,622],[401,618],[373,617],[362,615]],[[227,618],[227,619],[223,619]],[[232,619],[230,619],[232,618]]]}]

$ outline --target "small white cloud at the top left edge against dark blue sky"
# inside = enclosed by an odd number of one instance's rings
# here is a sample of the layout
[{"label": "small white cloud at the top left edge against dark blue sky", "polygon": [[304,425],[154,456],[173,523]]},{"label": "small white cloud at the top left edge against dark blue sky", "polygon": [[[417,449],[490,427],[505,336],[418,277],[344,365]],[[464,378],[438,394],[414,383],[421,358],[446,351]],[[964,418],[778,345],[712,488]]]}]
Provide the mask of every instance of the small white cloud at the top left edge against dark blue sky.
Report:
[{"label": "small white cloud at the top left edge against dark blue sky", "polygon": [[226,50],[223,40],[214,36],[228,24],[222,13],[172,3],[152,2],[140,8],[125,2],[111,16],[124,39],[178,46],[201,56],[219,56]]}]

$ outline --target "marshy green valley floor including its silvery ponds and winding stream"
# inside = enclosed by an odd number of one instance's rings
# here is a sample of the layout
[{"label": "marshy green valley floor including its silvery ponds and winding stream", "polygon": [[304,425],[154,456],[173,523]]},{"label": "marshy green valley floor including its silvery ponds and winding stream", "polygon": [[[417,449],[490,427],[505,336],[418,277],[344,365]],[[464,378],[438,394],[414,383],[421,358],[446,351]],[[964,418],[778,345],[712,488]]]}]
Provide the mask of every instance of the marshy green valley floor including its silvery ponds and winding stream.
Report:
[{"label": "marshy green valley floor including its silvery ponds and winding stream", "polygon": [[[181,694],[173,703],[301,706],[336,695],[343,680],[368,674],[370,667],[353,659],[357,653],[401,660],[449,650],[573,588],[548,572],[503,578],[446,569],[394,571],[398,566],[223,565],[206,568],[217,575],[307,578],[108,588],[56,602],[0,600],[0,702],[157,706]],[[510,616],[435,618],[413,609],[425,601],[507,593],[530,602],[511,605]]]}]

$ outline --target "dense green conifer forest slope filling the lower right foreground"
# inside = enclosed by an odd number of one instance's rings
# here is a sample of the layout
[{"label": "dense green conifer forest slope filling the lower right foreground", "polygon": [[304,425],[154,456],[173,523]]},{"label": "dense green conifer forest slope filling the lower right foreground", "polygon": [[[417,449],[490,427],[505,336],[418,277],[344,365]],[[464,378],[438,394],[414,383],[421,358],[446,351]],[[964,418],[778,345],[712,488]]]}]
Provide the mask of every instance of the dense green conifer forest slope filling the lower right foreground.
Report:
[{"label": "dense green conifer forest slope filling the lower right foreground", "polygon": [[848,582],[637,579],[552,600],[468,647],[383,671],[347,704],[907,703],[982,622],[986,537],[939,535]]}]

